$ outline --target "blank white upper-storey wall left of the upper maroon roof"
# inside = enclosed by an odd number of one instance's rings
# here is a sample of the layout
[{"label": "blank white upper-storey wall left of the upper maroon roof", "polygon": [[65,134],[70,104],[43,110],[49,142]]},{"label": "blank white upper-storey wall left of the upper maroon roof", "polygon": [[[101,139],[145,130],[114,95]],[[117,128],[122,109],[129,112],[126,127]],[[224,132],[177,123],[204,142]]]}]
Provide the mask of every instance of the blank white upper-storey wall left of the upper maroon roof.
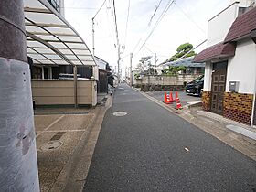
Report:
[{"label": "blank white upper-storey wall left of the upper maroon roof", "polygon": [[208,21],[208,47],[223,41],[238,16],[239,3],[230,5]]}]

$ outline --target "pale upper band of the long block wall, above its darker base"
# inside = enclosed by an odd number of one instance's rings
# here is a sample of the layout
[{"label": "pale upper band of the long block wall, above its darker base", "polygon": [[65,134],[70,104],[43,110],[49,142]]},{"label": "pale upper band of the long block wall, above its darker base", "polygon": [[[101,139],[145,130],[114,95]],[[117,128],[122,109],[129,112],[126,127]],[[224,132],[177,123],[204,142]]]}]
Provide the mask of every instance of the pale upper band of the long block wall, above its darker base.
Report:
[{"label": "pale upper band of the long block wall, above its darker base", "polygon": [[184,82],[190,82],[197,79],[201,75],[176,75],[176,76],[144,76],[143,84],[156,84],[156,85],[184,85]]}]

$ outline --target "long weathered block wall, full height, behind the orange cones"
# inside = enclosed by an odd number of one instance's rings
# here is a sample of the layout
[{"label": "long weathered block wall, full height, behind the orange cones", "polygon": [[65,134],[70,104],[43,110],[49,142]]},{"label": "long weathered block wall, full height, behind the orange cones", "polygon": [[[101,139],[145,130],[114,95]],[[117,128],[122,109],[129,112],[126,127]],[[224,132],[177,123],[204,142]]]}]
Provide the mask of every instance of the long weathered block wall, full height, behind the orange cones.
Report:
[{"label": "long weathered block wall, full height, behind the orange cones", "polygon": [[141,89],[142,91],[183,90],[187,82],[191,82],[200,76],[201,74],[179,74],[176,76],[146,75],[141,81]]}]

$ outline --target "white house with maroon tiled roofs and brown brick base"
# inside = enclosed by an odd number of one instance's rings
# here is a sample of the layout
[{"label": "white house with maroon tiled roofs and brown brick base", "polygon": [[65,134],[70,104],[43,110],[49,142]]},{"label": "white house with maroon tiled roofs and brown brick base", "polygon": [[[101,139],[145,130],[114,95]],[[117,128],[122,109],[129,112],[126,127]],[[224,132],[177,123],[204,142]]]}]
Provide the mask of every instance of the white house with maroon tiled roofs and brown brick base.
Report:
[{"label": "white house with maroon tiled roofs and brown brick base", "polygon": [[234,121],[256,124],[256,7],[233,2],[208,21],[203,108]]}]

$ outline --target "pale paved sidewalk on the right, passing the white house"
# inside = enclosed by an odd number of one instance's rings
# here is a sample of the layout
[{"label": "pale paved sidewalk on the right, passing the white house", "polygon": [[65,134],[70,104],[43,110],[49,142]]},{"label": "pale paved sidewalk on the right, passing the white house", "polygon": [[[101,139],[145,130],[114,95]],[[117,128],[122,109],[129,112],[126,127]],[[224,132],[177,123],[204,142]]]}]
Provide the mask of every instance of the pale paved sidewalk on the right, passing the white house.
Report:
[{"label": "pale paved sidewalk on the right, passing the white house", "polygon": [[187,122],[195,124],[202,131],[211,134],[256,161],[256,130],[254,128],[212,112],[204,112],[198,101],[189,101],[190,103],[184,105],[182,110],[176,110],[176,103],[167,105],[162,101],[162,98],[154,97],[152,92],[140,92],[167,111],[176,113]]}]

